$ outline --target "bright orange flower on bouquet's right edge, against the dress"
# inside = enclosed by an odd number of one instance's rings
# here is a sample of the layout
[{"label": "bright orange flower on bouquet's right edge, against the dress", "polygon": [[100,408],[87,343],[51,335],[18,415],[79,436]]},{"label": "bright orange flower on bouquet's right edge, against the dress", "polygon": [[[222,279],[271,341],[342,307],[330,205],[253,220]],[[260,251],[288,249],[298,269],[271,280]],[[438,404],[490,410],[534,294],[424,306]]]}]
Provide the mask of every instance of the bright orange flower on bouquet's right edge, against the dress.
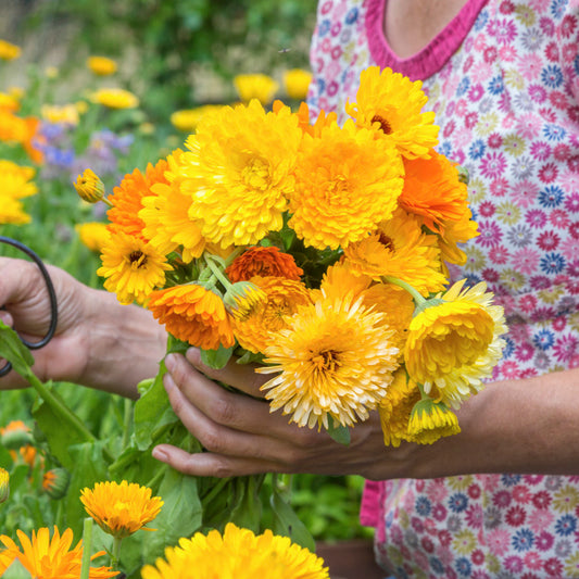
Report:
[{"label": "bright orange flower on bouquet's right edge, against the dress", "polygon": [[400,205],[421,215],[431,230],[443,232],[445,222],[460,222],[467,207],[467,187],[460,180],[456,164],[431,151],[430,159],[404,160],[404,188]]}]

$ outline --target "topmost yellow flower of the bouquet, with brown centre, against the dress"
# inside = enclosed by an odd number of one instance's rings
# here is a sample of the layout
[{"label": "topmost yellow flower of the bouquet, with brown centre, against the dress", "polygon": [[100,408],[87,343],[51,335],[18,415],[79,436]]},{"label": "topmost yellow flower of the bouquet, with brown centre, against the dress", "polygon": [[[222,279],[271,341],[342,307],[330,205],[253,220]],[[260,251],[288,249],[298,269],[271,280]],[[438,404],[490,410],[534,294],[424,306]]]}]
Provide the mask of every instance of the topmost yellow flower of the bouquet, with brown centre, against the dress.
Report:
[{"label": "topmost yellow flower of the bouquet, with brown centre, against the dress", "polygon": [[406,159],[428,158],[439,127],[432,124],[433,112],[421,112],[428,101],[421,86],[391,68],[370,66],[360,75],[356,102],[345,110],[356,125],[391,140]]}]

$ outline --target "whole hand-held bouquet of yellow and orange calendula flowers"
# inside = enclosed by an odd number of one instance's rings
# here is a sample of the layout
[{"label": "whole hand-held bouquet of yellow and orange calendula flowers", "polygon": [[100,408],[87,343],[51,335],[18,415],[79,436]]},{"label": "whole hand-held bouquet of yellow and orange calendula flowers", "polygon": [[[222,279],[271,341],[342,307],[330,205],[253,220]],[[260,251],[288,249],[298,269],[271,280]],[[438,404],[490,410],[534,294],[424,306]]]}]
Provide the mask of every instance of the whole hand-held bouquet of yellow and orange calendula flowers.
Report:
[{"label": "whole hand-held bouquet of yellow and orange calendula flowers", "polygon": [[209,112],[108,197],[105,288],[209,364],[263,363],[272,411],[302,427],[343,438],[378,410],[386,444],[460,431],[451,408],[482,388],[506,328],[483,284],[445,289],[477,224],[426,102],[370,67],[342,124],[305,103]]}]

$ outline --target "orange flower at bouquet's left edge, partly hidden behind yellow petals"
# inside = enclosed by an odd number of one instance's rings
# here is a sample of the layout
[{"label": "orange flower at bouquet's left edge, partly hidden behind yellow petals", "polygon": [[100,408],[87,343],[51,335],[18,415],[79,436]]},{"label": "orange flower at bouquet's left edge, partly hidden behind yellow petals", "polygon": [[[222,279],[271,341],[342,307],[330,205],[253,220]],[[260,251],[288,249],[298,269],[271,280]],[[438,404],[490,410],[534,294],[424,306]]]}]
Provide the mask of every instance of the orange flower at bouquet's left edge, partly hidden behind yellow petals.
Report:
[{"label": "orange flower at bouquet's left edge, partly hidden behind yellow petals", "polygon": [[143,207],[142,198],[154,194],[151,189],[154,184],[168,182],[164,175],[167,166],[167,162],[161,159],[154,166],[149,163],[144,175],[138,168],[125,175],[118,187],[108,197],[112,204],[106,212],[111,231],[142,236],[144,222],[139,217],[139,211]]}]

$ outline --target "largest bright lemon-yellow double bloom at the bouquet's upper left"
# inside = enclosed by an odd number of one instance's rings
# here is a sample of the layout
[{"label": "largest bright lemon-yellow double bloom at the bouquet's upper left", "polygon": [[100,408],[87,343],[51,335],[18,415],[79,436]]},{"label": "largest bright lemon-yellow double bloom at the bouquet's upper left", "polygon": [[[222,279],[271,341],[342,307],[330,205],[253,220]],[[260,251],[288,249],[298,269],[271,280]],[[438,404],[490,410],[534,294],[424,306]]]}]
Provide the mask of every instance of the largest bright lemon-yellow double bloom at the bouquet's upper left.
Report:
[{"label": "largest bright lemon-yellow double bloom at the bouquet's upper left", "polygon": [[253,246],[281,229],[301,136],[294,115],[266,113],[255,100],[202,118],[177,178],[209,242]]}]

